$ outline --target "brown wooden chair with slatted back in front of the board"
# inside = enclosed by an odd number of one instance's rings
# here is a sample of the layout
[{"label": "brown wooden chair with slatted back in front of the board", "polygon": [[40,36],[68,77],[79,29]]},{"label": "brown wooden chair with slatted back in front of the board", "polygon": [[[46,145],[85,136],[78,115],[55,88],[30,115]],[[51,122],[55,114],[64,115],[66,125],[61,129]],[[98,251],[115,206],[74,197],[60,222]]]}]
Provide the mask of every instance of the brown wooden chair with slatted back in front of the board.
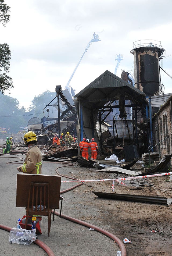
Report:
[{"label": "brown wooden chair with slatted back in front of the board", "polygon": [[51,229],[51,212],[52,208],[49,208],[49,183],[30,183],[28,204],[26,208],[26,223],[28,216],[41,215],[48,216],[48,237]]}]

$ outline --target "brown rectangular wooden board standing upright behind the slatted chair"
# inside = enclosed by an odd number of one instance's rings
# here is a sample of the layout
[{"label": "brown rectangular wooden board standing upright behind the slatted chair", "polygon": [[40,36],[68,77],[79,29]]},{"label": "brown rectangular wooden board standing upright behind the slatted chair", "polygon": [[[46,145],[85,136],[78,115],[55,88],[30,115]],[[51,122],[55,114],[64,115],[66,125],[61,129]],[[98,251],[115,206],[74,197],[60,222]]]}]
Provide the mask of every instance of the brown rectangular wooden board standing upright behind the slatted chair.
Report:
[{"label": "brown rectangular wooden board standing upright behind the slatted chair", "polygon": [[50,208],[59,209],[61,176],[17,173],[16,207],[27,207],[30,182],[49,183]]}]

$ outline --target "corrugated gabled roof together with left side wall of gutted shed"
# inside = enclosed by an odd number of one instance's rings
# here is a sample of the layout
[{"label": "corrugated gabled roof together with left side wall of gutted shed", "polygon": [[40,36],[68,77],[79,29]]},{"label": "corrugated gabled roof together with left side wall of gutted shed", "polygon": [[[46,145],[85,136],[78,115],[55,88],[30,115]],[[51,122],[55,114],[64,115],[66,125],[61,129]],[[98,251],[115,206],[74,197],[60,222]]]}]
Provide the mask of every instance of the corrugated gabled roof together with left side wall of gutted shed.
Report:
[{"label": "corrugated gabled roof together with left side wall of gutted shed", "polygon": [[[137,106],[148,105],[146,95],[143,92],[108,70],[76,94],[74,102],[78,113],[78,139],[82,140],[80,136],[80,129],[82,128],[83,137],[91,139],[94,135],[98,142],[96,121],[99,109],[109,101],[114,102],[121,97],[125,97],[125,100],[131,100],[131,104],[137,104]],[[83,126],[81,124],[82,119]]]}]

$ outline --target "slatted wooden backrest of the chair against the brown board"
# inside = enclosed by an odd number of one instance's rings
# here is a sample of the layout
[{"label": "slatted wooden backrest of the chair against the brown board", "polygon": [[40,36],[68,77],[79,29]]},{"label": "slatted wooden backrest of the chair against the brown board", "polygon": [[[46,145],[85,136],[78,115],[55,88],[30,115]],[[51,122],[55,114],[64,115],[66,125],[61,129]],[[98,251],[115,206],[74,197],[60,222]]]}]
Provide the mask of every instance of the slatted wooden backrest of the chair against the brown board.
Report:
[{"label": "slatted wooden backrest of the chair against the brown board", "polygon": [[27,207],[37,215],[49,209],[49,183],[30,183]]}]

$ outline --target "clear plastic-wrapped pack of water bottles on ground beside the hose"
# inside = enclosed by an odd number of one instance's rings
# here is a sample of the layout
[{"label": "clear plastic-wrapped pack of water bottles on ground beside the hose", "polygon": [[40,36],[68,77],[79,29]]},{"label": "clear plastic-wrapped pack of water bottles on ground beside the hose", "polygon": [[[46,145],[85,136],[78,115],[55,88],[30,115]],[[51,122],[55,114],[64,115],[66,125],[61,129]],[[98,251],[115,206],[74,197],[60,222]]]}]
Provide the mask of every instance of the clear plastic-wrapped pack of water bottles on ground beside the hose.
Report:
[{"label": "clear plastic-wrapped pack of water bottles on ground beside the hose", "polygon": [[36,229],[18,229],[13,227],[10,231],[9,242],[11,244],[29,245],[37,239]]}]

